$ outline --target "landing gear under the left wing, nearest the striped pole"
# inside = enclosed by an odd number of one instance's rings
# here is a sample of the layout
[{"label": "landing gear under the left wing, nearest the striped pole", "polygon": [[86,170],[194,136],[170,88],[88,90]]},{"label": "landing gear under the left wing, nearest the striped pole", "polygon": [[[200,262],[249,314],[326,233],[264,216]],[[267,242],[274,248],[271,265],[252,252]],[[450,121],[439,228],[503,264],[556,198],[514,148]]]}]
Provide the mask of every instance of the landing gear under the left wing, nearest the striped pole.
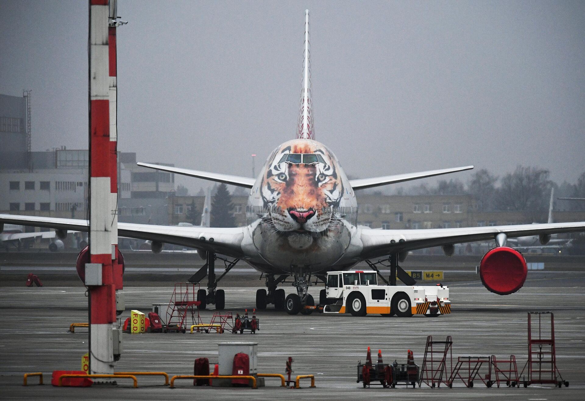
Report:
[{"label": "landing gear under the left wing, nearest the striped pole", "polygon": [[[225,272],[218,279],[215,278],[215,260],[222,260],[225,263]],[[239,259],[229,261],[218,257],[215,253],[207,253],[207,263],[201,269],[191,276],[189,282],[198,283],[207,275],[207,291],[199,289],[197,292],[197,300],[201,302],[199,309],[206,309],[207,305],[215,305],[215,309],[222,310],[225,308],[225,291],[217,289],[218,282],[225,276],[235,265]]]}]

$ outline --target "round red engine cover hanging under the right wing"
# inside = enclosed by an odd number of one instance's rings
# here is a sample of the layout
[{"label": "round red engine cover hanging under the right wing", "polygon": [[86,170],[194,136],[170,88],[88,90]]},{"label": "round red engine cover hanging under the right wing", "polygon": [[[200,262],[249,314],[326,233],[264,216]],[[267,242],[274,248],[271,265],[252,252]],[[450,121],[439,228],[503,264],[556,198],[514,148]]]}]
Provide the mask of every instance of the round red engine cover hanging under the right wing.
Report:
[{"label": "round red engine cover hanging under the right wing", "polygon": [[497,247],[481,258],[479,276],[491,292],[508,295],[522,288],[526,281],[526,260],[517,250]]}]

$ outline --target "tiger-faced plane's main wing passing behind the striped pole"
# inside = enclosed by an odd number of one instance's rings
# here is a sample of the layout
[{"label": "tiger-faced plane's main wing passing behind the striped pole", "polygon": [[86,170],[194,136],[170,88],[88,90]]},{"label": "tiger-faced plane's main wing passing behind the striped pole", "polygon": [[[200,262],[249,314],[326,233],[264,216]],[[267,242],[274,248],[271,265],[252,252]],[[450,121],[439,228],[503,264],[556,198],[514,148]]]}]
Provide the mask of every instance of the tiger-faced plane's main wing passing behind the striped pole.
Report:
[{"label": "tiger-faced plane's main wing passing behind the striped pole", "polygon": [[[88,231],[87,220],[57,219],[56,217],[17,216],[0,214],[0,223],[22,226],[49,227],[71,231]],[[151,224],[118,223],[120,237],[164,243],[212,251],[235,258],[243,258],[242,239],[245,227],[176,227],[154,226]]]}]

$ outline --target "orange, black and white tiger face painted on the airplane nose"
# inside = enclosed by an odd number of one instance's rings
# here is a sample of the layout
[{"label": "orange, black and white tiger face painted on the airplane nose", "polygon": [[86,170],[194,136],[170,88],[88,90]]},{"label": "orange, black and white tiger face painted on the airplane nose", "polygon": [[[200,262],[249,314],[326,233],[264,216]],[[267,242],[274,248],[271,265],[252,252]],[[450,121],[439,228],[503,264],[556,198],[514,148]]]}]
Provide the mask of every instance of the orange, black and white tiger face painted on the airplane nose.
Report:
[{"label": "orange, black and white tiger face painted on the airplane nose", "polygon": [[339,222],[343,179],[335,156],[307,139],[288,141],[271,154],[260,182],[263,224],[289,236],[295,247],[307,247]]}]

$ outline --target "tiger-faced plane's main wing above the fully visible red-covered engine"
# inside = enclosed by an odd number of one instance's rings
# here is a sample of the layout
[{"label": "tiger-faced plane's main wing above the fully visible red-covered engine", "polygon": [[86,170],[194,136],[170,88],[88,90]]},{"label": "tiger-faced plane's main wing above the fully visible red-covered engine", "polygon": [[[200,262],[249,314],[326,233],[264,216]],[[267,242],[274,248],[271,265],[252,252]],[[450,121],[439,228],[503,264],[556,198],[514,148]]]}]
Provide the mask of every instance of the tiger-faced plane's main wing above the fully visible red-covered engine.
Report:
[{"label": "tiger-faced plane's main wing above the fully visible red-covered engine", "polygon": [[429,230],[362,229],[363,249],[360,256],[364,259],[369,259],[422,248],[494,240],[499,233],[505,233],[508,237],[513,238],[577,231],[585,231],[585,222]]}]

